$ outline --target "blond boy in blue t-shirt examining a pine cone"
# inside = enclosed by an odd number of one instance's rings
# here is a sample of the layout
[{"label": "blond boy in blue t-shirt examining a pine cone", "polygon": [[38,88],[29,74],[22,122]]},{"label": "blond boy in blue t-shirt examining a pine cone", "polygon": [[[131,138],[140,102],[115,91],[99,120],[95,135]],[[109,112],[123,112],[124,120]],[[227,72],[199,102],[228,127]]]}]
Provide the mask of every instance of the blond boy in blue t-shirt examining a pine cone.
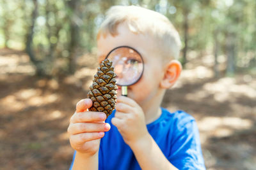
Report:
[{"label": "blond boy in blue t-shirt examining a pine cone", "polygon": [[143,75],[128,87],[128,97],[118,88],[116,110],[107,119],[87,110],[90,99],[77,103],[68,127],[76,150],[70,169],[205,169],[195,119],[160,107],[182,70],[175,60],[178,32],[155,11],[113,6],[97,36],[99,62],[123,45],[141,53]]}]

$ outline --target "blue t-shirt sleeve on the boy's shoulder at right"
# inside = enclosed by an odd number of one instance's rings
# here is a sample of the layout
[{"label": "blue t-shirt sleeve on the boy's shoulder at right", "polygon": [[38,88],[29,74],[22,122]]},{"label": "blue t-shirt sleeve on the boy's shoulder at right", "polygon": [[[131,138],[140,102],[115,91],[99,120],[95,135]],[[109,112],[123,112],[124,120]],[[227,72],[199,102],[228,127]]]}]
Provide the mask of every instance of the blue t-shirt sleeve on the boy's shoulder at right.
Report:
[{"label": "blue t-shirt sleeve on the boy's shoulder at right", "polygon": [[168,160],[178,169],[205,169],[200,146],[198,127],[190,120],[182,127],[177,125],[172,139],[171,155]]}]

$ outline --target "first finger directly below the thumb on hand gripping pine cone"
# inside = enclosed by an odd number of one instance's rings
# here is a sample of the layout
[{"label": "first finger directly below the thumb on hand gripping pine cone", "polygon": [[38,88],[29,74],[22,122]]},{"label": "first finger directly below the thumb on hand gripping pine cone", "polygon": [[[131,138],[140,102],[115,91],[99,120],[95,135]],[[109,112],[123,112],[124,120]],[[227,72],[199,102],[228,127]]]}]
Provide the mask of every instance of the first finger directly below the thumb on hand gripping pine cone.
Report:
[{"label": "first finger directly below the thumb on hand gripping pine cone", "polygon": [[99,111],[85,111],[80,113],[74,113],[70,118],[70,122],[102,122],[106,120],[106,114]]}]

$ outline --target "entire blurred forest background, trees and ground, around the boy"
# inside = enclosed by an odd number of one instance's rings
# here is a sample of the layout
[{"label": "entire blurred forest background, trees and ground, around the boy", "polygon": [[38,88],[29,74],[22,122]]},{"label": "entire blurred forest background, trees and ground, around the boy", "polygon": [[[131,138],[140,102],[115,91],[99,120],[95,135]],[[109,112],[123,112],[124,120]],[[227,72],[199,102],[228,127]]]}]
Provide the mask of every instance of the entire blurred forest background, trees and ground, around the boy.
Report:
[{"label": "entire blurred forest background, trees and ground, around the boy", "polygon": [[207,169],[255,169],[255,0],[0,0],[1,169],[68,168],[68,121],[118,4],[156,10],[179,31],[184,71],[163,106],[196,118]]}]

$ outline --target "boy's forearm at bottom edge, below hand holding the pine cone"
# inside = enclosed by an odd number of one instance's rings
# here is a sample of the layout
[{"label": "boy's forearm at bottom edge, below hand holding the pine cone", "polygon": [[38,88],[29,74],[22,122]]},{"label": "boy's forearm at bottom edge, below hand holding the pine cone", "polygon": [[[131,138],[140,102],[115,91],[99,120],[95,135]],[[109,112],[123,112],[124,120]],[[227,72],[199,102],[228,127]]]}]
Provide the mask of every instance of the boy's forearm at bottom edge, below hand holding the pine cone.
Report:
[{"label": "boy's forearm at bottom edge, below hand holding the pine cone", "polygon": [[87,155],[84,155],[83,153],[76,153],[76,158],[74,160],[74,165],[72,170],[87,170],[87,169],[98,169],[99,166],[99,152],[95,153],[95,155],[92,155],[88,157]]}]

